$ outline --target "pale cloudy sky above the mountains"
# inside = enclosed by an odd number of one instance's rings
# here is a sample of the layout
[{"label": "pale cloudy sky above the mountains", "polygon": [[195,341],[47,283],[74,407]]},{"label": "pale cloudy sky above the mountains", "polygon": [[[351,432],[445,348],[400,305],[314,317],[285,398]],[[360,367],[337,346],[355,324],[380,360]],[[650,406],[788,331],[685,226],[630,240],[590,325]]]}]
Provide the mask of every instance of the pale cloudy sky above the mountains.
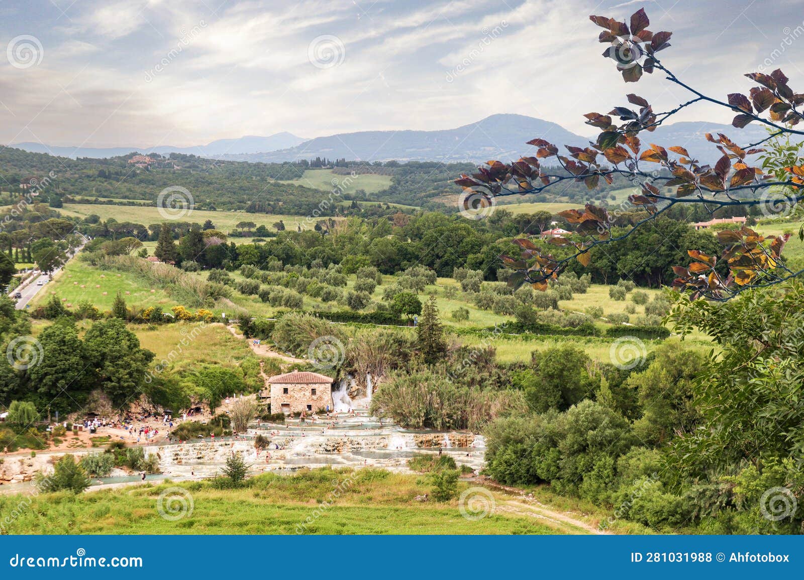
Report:
[{"label": "pale cloudy sky above the mountains", "polygon": [[589,135],[583,114],[626,93],[656,111],[690,98],[655,73],[625,84],[601,56],[589,14],[640,7],[673,32],[662,63],[702,92],[748,92],[743,74],[777,67],[804,91],[802,0],[0,0],[0,143],[190,146],[500,112]]}]

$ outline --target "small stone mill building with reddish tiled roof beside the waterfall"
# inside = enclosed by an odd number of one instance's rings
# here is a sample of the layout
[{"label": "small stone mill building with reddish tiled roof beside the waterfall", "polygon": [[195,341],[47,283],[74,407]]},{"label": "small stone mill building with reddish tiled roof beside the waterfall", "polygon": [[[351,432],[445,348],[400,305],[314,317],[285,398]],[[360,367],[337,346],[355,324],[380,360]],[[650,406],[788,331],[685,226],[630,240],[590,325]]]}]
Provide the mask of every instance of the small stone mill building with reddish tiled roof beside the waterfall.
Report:
[{"label": "small stone mill building with reddish tiled roof beside the waterfall", "polygon": [[277,374],[268,379],[271,412],[285,415],[304,411],[332,409],[333,378],[323,374],[300,372]]}]

